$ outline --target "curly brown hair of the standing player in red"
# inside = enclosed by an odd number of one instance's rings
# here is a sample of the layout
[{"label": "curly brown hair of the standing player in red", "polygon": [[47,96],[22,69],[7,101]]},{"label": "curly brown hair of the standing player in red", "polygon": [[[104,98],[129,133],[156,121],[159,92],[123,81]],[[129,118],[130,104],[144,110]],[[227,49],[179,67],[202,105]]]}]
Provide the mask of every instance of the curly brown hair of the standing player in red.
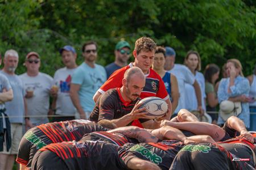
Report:
[{"label": "curly brown hair of the standing player in red", "polygon": [[136,53],[139,54],[141,50],[144,50],[146,52],[153,51],[156,49],[155,42],[148,38],[148,37],[141,37],[135,42],[134,50],[136,50]]}]

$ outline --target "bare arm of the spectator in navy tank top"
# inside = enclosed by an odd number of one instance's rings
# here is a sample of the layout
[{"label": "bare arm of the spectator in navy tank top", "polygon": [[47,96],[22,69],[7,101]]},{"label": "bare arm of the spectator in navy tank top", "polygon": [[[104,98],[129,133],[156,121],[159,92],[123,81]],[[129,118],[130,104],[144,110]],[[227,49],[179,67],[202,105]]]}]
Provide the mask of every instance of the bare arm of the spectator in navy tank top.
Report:
[{"label": "bare arm of the spectator in navy tank top", "polygon": [[172,95],[172,113],[174,113],[178,101],[179,101],[179,86],[177,84],[177,78],[175,75],[171,74],[171,95]]}]

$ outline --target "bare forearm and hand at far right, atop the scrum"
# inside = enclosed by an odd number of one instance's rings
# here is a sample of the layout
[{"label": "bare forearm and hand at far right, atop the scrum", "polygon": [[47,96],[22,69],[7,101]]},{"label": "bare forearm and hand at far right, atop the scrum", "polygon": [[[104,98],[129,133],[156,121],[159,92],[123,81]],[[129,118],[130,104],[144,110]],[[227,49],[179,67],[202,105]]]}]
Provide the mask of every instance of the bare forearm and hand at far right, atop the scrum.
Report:
[{"label": "bare forearm and hand at far right, atop the scrum", "polygon": [[236,117],[236,116],[231,116],[226,120],[228,127],[231,129],[234,129],[240,133],[240,137],[244,137],[248,139],[251,143],[254,142],[253,135],[251,135],[245,128],[245,124],[243,121]]}]

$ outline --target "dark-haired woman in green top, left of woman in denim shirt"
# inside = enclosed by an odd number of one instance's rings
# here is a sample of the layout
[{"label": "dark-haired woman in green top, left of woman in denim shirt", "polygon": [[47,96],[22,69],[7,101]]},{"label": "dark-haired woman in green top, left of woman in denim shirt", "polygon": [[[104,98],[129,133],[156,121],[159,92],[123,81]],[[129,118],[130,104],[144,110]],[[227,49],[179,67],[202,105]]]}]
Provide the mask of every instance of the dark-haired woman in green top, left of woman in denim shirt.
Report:
[{"label": "dark-haired woman in green top, left of woman in denim shirt", "polygon": [[[214,91],[214,84],[218,79],[220,74],[220,68],[212,63],[205,67],[204,77],[205,77],[205,93],[207,94],[207,111],[216,112],[218,105],[217,92]],[[210,114],[212,117],[212,123],[217,124],[218,114]]]}]

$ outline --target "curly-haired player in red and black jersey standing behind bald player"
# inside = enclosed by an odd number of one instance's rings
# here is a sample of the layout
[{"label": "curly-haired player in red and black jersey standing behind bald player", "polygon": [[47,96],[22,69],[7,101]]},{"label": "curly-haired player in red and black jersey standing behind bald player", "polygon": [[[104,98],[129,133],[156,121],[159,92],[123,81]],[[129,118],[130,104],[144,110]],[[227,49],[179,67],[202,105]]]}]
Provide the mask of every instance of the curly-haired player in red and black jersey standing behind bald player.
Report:
[{"label": "curly-haired player in red and black jersey standing behind bald player", "polygon": [[96,92],[93,96],[93,100],[97,101],[98,97],[110,88],[122,87],[122,79],[125,71],[130,67],[136,66],[139,67],[146,76],[146,86],[143,88],[141,98],[143,99],[144,97],[156,96],[165,100],[168,104],[168,113],[163,118],[170,120],[172,111],[170,97],[164,87],[162,78],[160,78],[160,76],[151,69],[155,49],[156,44],[153,40],[147,37],[139,38],[135,42],[135,48],[133,51],[133,56],[135,58],[134,63],[130,63],[128,66],[115,71],[115,73],[109,77],[108,81],[105,82]]}]

